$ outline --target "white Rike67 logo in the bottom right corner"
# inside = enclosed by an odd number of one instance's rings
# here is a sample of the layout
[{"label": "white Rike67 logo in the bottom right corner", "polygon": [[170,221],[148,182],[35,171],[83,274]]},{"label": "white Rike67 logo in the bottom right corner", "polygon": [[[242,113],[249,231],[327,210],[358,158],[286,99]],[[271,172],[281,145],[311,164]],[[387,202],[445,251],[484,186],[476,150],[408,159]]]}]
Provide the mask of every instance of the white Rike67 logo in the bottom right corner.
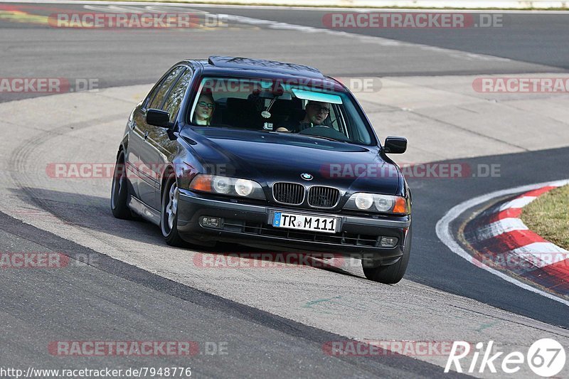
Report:
[{"label": "white Rike67 logo in the bottom right corner", "polygon": [[[445,365],[445,373],[448,373],[453,365],[454,370],[462,373],[462,364],[466,363],[467,373],[484,373],[486,368],[491,373],[497,373],[497,367],[501,368],[503,373],[515,374],[527,364],[536,375],[549,378],[560,373],[565,367],[565,349],[552,338],[542,338],[534,342],[526,355],[520,351],[514,351],[503,356],[504,351],[499,351],[499,348],[494,347],[494,341],[489,341],[486,348],[484,348],[484,343],[479,342],[476,344],[474,353],[470,353],[468,342],[454,341],[447,365]],[[471,356],[472,360],[470,360]],[[466,357],[468,358],[464,359]]]}]

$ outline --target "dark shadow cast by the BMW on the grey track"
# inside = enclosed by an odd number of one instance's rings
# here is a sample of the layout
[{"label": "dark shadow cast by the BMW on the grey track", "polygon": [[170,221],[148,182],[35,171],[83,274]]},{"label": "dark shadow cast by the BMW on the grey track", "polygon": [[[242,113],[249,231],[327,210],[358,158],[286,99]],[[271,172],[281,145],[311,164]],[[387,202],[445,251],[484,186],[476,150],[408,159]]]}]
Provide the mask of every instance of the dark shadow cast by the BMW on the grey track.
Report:
[{"label": "dark shadow cast by the BMW on the grey track", "polygon": [[[13,194],[36,208],[16,210],[14,216],[26,221],[37,220],[52,225],[72,225],[95,232],[115,235],[128,240],[166,247],[156,225],[135,218],[119,220],[110,210],[110,199],[79,193],[53,191],[45,188],[26,188],[26,195],[13,190]],[[361,278],[353,271],[354,260],[333,253],[277,252],[234,243],[218,242],[214,247],[188,244],[171,249],[191,250],[200,256],[202,265],[209,267],[309,267]],[[208,255],[213,255],[213,257]],[[238,258],[241,258],[238,260]],[[194,257],[196,260],[196,257]],[[359,261],[357,261],[359,262]],[[359,263],[358,263],[359,268]]]}]

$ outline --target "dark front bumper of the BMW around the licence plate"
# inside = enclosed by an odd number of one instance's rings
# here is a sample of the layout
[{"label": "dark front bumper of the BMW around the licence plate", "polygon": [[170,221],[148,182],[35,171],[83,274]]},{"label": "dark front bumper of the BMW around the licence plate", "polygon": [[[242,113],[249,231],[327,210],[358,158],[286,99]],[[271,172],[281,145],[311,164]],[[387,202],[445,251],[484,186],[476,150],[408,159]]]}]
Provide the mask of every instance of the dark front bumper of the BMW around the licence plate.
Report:
[{"label": "dark front bumper of the BMW around the licence plate", "polygon": [[[275,211],[339,217],[339,231],[319,233],[274,228],[271,224]],[[222,218],[220,228],[202,226],[199,222],[202,216]],[[304,208],[237,203],[231,199],[213,200],[191,191],[179,191],[178,231],[184,240],[198,245],[214,241],[234,242],[282,252],[331,252],[389,264],[403,255],[410,223],[410,216],[393,219],[357,217]],[[379,247],[381,237],[397,237],[398,245]]]}]

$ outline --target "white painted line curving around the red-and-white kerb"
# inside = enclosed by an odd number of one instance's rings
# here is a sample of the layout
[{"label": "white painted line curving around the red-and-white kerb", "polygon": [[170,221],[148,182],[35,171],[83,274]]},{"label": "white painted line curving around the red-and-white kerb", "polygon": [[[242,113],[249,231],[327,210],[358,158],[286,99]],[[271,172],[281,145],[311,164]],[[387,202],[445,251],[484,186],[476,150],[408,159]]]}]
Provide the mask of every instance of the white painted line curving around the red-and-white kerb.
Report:
[{"label": "white painted line curving around the red-and-white kerb", "polygon": [[454,221],[457,217],[459,217],[459,215],[464,213],[465,210],[472,208],[476,205],[479,205],[481,203],[484,203],[486,201],[489,201],[492,198],[510,195],[512,193],[532,191],[532,190],[542,188],[545,186],[552,186],[553,184],[563,185],[563,184],[568,184],[568,183],[569,183],[569,180],[531,184],[528,186],[520,186],[520,187],[516,187],[516,188],[509,188],[509,189],[505,189],[505,190],[501,190],[501,191],[495,191],[492,193],[487,193],[486,195],[478,196],[477,198],[472,198],[469,201],[464,201],[464,203],[460,203],[459,205],[454,206],[451,210],[449,210],[447,212],[447,214],[445,214],[437,222],[437,226],[436,226],[437,237],[439,237],[439,239],[442,241],[442,243],[447,245],[447,247],[452,252],[459,255],[460,257],[463,257],[465,260],[472,263],[472,265],[475,265],[477,267],[485,269],[487,272],[490,272],[491,274],[494,274],[497,277],[500,277],[501,279],[506,280],[506,282],[509,282],[511,284],[515,284],[518,287],[521,287],[523,289],[527,289],[528,291],[534,292],[534,293],[539,294],[543,297],[547,297],[548,299],[559,301],[561,304],[565,304],[565,305],[569,306],[569,301],[567,301],[565,299],[561,299],[560,297],[556,297],[555,295],[541,291],[541,289],[531,287],[530,285],[528,285],[526,283],[520,282],[519,280],[514,279],[513,277],[510,277],[509,275],[504,274],[503,272],[499,272],[496,269],[493,269],[491,267],[484,265],[483,262],[479,262],[479,261],[473,262],[472,255],[469,255],[469,253],[466,250],[464,250],[456,240],[454,240],[454,237],[452,237],[452,233],[450,232],[450,224],[452,223],[452,221]]}]

